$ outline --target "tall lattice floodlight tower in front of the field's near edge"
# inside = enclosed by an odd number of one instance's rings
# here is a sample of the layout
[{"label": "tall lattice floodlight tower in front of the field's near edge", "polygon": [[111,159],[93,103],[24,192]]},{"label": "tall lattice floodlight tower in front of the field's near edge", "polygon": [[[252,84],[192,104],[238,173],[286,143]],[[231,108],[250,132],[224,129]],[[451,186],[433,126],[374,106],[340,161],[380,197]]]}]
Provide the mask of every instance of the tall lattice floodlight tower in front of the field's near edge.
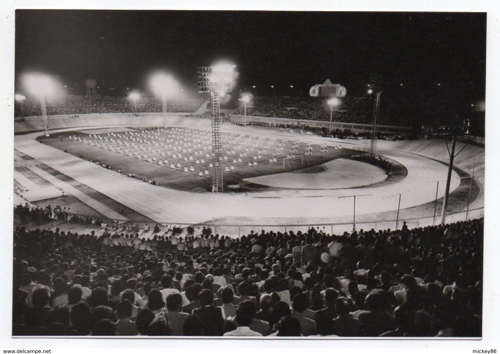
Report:
[{"label": "tall lattice floodlight tower in front of the field's near edge", "polygon": [[231,91],[234,65],[198,67],[198,92],[209,92],[212,108],[212,192],[223,191],[222,143],[220,138],[220,97]]}]

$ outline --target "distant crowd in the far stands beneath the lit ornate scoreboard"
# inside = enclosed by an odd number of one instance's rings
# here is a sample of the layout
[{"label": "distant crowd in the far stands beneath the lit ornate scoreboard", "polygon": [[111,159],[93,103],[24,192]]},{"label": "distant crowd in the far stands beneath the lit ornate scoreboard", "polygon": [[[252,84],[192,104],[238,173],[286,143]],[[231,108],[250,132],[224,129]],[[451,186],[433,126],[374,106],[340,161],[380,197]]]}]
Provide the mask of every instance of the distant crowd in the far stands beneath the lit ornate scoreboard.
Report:
[{"label": "distant crowd in the far stands beneath the lit ornate scoreboard", "polygon": [[[246,115],[330,121],[327,98],[318,97],[253,97],[246,104]],[[371,123],[373,100],[364,97],[344,97],[333,107],[332,120],[349,123]],[[232,114],[244,114],[244,106]],[[382,124],[382,122],[380,122]]]}]

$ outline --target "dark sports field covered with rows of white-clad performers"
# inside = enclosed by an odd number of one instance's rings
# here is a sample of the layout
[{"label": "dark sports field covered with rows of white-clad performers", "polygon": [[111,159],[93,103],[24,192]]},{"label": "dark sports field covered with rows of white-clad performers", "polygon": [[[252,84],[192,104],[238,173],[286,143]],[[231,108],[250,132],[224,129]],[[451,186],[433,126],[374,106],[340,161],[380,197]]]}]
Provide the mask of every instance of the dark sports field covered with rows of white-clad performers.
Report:
[{"label": "dark sports field covered with rows of white-clad performers", "polygon": [[[39,140],[86,160],[111,166],[114,171],[120,169],[123,175],[132,172],[135,178],[153,179],[161,186],[190,191],[208,191],[211,187],[213,161],[209,129],[99,129],[53,134]],[[350,149],[336,149],[312,141],[222,133],[223,182],[235,184],[245,178],[320,165],[350,152]]]}]

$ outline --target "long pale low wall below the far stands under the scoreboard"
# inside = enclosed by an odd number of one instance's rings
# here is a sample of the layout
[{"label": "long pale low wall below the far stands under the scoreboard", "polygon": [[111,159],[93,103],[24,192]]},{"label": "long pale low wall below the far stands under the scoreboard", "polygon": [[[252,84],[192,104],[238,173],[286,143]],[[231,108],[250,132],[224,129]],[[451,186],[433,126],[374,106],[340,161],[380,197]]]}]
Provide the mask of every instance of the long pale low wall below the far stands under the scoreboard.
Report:
[{"label": "long pale low wall below the far stands under the scoreboard", "polygon": [[[229,120],[234,123],[243,124],[245,122],[244,115],[230,114]],[[294,118],[275,118],[275,117],[259,117],[253,115],[246,116],[246,123],[267,123],[267,124],[284,124],[300,127],[330,127],[329,121],[321,120],[302,120]],[[371,124],[346,123],[334,121],[331,123],[333,130],[339,129],[342,132],[371,132]],[[409,126],[394,126],[394,125],[378,125],[378,131],[386,134],[410,134],[412,128]]]}]

